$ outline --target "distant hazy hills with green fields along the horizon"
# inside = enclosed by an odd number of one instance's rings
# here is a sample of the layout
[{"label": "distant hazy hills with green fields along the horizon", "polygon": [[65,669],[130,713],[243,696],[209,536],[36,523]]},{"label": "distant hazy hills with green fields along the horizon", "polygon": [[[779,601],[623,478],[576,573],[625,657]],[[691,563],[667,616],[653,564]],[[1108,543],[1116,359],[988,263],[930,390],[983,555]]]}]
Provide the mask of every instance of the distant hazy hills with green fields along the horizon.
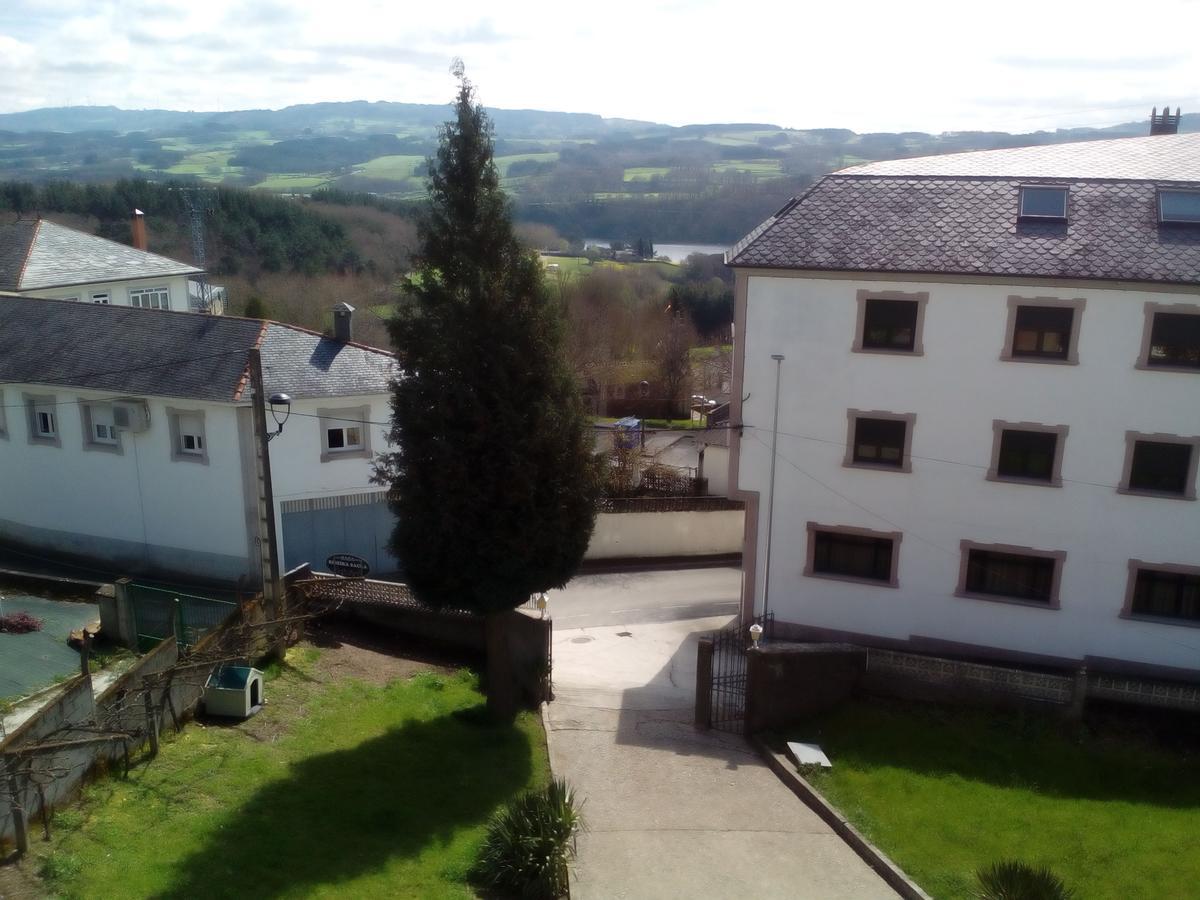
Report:
[{"label": "distant hazy hills with green fields along the horizon", "polygon": [[[1147,122],[1026,134],[857,133],[766,122],[672,127],[587,113],[491,109],[517,217],[564,236],[727,242],[812,179],[875,160],[1145,134]],[[65,107],[0,115],[0,179],[198,180],[282,194],[424,197],[449,107],[306,103],[235,112]],[[1200,131],[1200,115],[1181,130]]]}]

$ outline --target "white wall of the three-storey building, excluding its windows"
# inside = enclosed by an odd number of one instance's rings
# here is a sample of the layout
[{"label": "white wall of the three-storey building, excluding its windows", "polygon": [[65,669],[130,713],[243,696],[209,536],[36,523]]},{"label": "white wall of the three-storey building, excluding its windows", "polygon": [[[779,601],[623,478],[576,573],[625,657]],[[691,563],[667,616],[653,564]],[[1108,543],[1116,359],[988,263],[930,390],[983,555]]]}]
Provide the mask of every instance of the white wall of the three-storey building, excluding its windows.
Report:
[{"label": "white wall of the three-storey building, excluding its windows", "polygon": [[[928,290],[923,356],[852,353],[856,292]],[[1079,365],[1004,362],[1007,298],[1086,298]],[[1200,434],[1200,377],[1139,371],[1144,304],[1088,287],[749,277],[738,486],[761,492],[766,577],[774,353],[782,353],[770,606],[827,629],[1068,659],[1200,667],[1200,630],[1118,618],[1127,563],[1196,564],[1200,504],[1118,494],[1126,430]],[[916,413],[912,473],[842,467],[847,409]],[[1068,425],[1060,488],[985,480],[992,420]],[[904,533],[898,589],[804,577],[805,524]],[[1061,610],[954,596],[959,541],[1066,551]]]}]

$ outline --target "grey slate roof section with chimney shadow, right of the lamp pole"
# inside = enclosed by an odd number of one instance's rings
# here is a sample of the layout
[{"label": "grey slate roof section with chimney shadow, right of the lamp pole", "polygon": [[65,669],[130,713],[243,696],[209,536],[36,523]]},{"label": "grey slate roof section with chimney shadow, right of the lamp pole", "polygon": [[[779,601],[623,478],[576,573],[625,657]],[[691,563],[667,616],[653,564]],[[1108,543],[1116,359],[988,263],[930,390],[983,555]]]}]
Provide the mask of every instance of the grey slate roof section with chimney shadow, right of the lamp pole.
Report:
[{"label": "grey slate roof section with chimney shadow, right of the lamp pole", "polygon": [[293,397],[383,394],[397,372],[395,358],[356,343],[269,323],[263,341],[263,386]]}]

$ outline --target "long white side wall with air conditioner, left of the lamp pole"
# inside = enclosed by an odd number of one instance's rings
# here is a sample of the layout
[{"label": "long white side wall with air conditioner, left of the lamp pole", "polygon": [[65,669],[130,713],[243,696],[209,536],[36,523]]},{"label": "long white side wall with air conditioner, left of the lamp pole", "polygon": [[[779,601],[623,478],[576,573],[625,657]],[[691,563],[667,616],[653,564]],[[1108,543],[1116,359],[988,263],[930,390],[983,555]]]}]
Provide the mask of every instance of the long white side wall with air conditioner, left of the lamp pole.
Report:
[{"label": "long white side wall with air conditioner, left of the lamp pole", "polygon": [[[163,551],[158,556],[180,560],[210,554],[218,566],[246,559],[232,404],[149,397],[149,430],[122,431],[122,451],[114,454],[84,449],[80,401],[115,395],[13,384],[0,391],[7,420],[7,437],[0,438],[0,529],[17,538],[41,534],[41,540],[60,544],[48,547],[59,552],[103,553],[106,546],[112,551],[130,544],[150,545]],[[29,443],[25,394],[55,397],[59,446]],[[172,460],[167,407],[204,413],[208,464]]]}]

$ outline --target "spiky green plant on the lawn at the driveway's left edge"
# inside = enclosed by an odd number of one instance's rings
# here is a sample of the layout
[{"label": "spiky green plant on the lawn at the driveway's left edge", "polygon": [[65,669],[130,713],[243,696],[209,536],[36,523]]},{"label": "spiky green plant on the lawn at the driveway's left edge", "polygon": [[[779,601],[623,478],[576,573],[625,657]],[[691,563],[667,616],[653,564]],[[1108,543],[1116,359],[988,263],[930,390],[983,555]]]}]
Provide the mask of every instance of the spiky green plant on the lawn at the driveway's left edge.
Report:
[{"label": "spiky green plant on the lawn at the driveway's left edge", "polygon": [[504,805],[487,826],[476,881],[503,895],[554,900],[566,894],[568,863],[583,827],[575,790],[553,779]]}]

